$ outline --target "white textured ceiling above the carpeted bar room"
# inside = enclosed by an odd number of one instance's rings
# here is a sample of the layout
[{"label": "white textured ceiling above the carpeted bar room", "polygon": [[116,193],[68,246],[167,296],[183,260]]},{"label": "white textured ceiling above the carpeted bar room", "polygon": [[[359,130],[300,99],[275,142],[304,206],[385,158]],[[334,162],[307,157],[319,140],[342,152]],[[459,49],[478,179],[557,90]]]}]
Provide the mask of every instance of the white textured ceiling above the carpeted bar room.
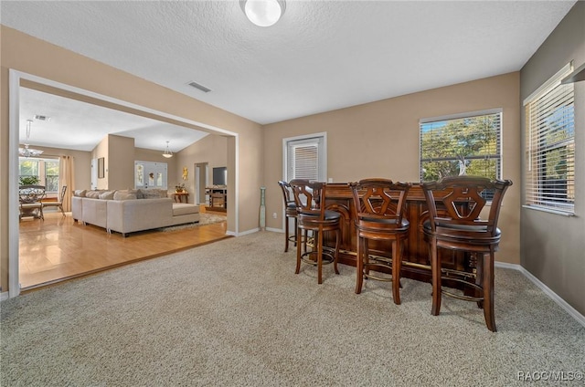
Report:
[{"label": "white textured ceiling above the carpeted bar room", "polygon": [[289,0],[259,27],[239,1],[3,0],[0,17],[266,124],[517,71],[574,3]]}]

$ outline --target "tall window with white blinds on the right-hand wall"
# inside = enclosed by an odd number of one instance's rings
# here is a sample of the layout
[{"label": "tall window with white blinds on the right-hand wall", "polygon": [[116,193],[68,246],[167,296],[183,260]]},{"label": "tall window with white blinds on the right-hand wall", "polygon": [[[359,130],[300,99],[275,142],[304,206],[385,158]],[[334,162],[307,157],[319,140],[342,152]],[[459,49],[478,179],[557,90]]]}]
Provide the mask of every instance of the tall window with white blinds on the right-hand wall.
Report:
[{"label": "tall window with white blinds on the right-hand wall", "polygon": [[525,198],[527,206],[573,214],[574,92],[572,83],[560,83],[570,71],[569,64],[525,100]]}]

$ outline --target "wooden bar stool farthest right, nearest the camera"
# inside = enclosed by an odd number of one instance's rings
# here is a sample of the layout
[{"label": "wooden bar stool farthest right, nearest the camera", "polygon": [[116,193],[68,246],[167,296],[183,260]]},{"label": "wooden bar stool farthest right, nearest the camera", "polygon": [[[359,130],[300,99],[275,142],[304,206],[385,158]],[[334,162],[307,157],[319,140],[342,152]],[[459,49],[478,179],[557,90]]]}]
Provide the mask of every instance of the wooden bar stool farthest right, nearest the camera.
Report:
[{"label": "wooden bar stool farthest right, nearest the camera", "polygon": [[[484,177],[445,177],[439,182],[423,183],[429,207],[429,220],[422,228],[429,243],[431,256],[432,309],[434,316],[441,311],[441,294],[477,302],[484,309],[487,329],[496,331],[494,316],[494,256],[502,233],[497,228],[500,206],[510,180],[490,180]],[[480,213],[488,200],[492,201],[486,220]],[[437,204],[441,204],[438,208]],[[441,269],[439,248],[467,251],[477,259],[475,283]],[[444,276],[443,276],[444,274]],[[469,273],[466,273],[469,276]],[[441,288],[441,279],[450,279],[471,286],[476,296],[452,293]]]}]

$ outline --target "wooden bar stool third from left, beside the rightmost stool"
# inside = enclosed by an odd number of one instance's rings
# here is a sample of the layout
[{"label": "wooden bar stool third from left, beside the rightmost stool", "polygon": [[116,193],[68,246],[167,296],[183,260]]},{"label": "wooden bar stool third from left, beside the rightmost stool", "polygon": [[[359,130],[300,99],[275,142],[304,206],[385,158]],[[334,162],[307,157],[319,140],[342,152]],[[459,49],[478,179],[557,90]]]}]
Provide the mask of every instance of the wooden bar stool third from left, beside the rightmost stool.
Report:
[{"label": "wooden bar stool third from left, beside the rightmost stool", "polygon": [[[387,179],[364,179],[350,183],[356,219],[356,294],[361,293],[364,278],[392,281],[392,298],[400,304],[400,269],[403,244],[410,224],[404,217],[410,183],[393,183]],[[392,258],[370,256],[369,241],[388,240]],[[391,268],[392,277],[380,277],[370,269]]]}]

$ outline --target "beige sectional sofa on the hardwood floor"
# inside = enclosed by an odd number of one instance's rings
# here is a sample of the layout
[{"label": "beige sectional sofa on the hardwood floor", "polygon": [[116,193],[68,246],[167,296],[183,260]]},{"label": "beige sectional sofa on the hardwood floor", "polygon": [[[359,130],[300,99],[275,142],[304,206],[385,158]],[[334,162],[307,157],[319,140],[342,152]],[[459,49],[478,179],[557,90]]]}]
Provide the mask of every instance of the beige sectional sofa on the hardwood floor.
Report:
[{"label": "beige sectional sofa on the hardwood floor", "polygon": [[[199,221],[199,206],[175,203],[165,191],[76,191],[71,198],[75,221],[98,225],[126,236],[136,231]],[[140,198],[138,198],[140,197]]]}]

